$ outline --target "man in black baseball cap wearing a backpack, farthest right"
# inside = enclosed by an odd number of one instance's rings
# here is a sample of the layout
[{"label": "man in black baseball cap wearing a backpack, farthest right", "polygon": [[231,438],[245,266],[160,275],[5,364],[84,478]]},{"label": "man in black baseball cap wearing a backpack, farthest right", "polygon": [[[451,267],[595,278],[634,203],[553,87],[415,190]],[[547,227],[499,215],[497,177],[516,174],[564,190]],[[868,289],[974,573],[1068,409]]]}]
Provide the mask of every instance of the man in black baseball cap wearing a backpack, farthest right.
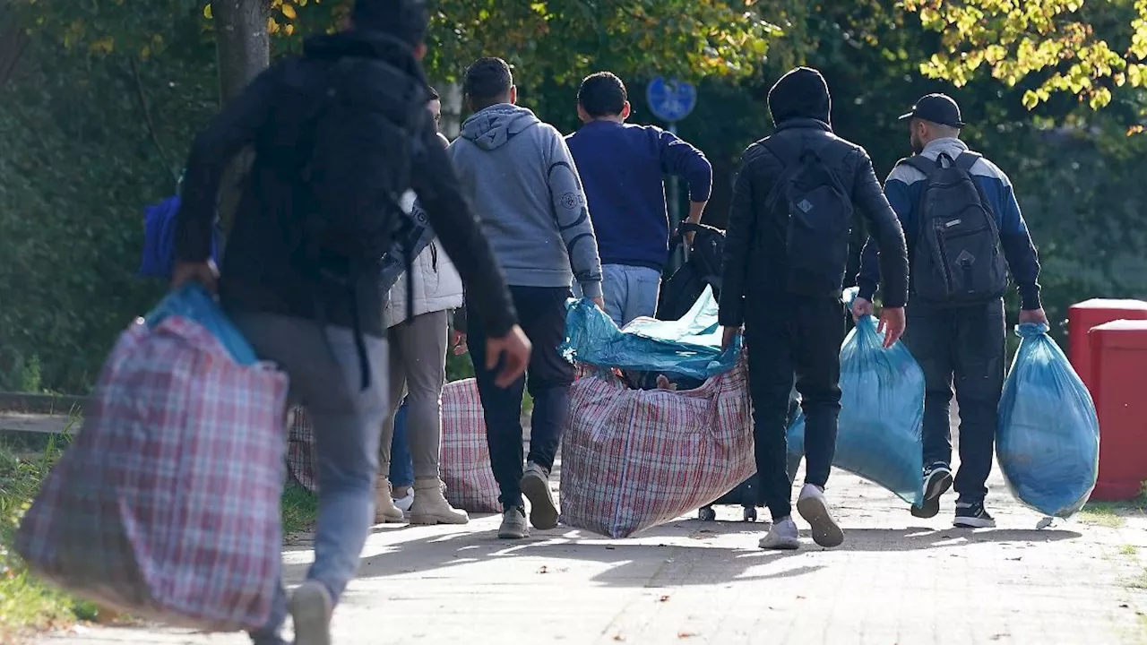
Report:
[{"label": "man in black baseball cap wearing a backpack, farthest right", "polygon": [[[960,406],[954,524],[993,527],[984,497],[1004,389],[1002,296],[1011,270],[1020,287],[1020,322],[1047,322],[1039,303],[1039,258],[1012,181],[960,140],[965,124],[955,101],[929,94],[900,119],[908,122],[913,156],[892,169],[884,191],[908,236],[912,304],[904,342],[924,371],[927,389],[924,503],[912,514],[936,516],[941,496],[952,485],[954,376]],[[881,240],[869,240],[861,255],[853,316],[872,312],[882,248]]]}]

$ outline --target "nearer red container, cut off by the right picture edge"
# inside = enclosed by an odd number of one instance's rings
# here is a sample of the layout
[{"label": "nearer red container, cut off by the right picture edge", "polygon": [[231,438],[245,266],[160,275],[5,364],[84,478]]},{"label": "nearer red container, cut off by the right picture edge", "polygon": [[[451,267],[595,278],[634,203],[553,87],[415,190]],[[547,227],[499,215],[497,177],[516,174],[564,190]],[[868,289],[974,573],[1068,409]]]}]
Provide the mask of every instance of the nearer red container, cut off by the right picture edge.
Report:
[{"label": "nearer red container, cut off by the right picture edge", "polygon": [[1147,320],[1115,320],[1089,336],[1100,436],[1091,498],[1134,499],[1147,480]]}]

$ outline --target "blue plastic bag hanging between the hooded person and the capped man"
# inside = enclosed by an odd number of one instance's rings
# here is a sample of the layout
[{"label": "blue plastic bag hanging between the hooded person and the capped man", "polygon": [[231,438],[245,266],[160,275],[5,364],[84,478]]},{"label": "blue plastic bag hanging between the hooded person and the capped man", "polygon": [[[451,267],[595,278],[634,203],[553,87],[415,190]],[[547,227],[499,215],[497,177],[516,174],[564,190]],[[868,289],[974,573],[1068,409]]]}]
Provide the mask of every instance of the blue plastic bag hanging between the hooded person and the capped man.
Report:
[{"label": "blue plastic bag hanging between the hooded person and the capped man", "polygon": [[[841,417],[833,465],[905,502],[923,503],[924,373],[903,343],[884,349],[866,316],[841,345]],[[751,351],[751,348],[750,348]],[[804,413],[788,430],[788,471],[804,454]]]}]

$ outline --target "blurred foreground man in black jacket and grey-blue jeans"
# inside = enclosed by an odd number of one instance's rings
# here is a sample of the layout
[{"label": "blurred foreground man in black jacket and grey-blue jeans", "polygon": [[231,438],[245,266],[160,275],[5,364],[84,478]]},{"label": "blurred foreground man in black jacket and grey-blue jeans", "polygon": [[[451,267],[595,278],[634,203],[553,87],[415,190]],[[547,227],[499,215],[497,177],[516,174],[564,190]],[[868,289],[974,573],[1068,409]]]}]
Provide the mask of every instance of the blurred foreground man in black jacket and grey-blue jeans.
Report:
[{"label": "blurred foreground man in black jacket and grey-blue jeans", "polygon": [[[529,341],[426,109],[421,0],[358,0],[352,26],[307,40],[259,75],[195,140],[172,283],[214,286],[211,225],[220,177],[245,146],[255,162],[224,257],[219,296],[260,358],[290,376],[314,423],[314,564],[289,609],[295,643],[330,643],[330,616],[374,520],[379,426],[387,410],[380,258],[412,187],[479,306],[499,382],[518,378]],[[398,155],[396,150],[409,150]],[[286,441],[286,433],[283,435]],[[236,456],[241,458],[241,456]],[[283,644],[280,583],[258,644]]]}]

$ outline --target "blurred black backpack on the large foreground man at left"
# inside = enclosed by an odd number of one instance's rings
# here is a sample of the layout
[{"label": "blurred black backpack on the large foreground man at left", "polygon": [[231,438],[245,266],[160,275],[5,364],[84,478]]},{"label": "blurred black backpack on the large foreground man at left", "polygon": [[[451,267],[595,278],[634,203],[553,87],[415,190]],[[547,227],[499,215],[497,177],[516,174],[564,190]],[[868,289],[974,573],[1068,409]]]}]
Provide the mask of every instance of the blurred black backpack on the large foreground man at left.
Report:
[{"label": "blurred black backpack on the large foreground man at left", "polygon": [[430,118],[428,94],[408,73],[376,59],[346,56],[320,70],[311,63],[287,72],[297,96],[288,98],[295,104],[283,108],[278,123],[298,178],[289,218],[294,257],[310,278],[320,325],[321,295],[348,293],[366,388],[369,362],[357,294],[377,288],[382,258],[406,219],[400,199],[411,187],[413,156],[426,154],[419,133]]}]

